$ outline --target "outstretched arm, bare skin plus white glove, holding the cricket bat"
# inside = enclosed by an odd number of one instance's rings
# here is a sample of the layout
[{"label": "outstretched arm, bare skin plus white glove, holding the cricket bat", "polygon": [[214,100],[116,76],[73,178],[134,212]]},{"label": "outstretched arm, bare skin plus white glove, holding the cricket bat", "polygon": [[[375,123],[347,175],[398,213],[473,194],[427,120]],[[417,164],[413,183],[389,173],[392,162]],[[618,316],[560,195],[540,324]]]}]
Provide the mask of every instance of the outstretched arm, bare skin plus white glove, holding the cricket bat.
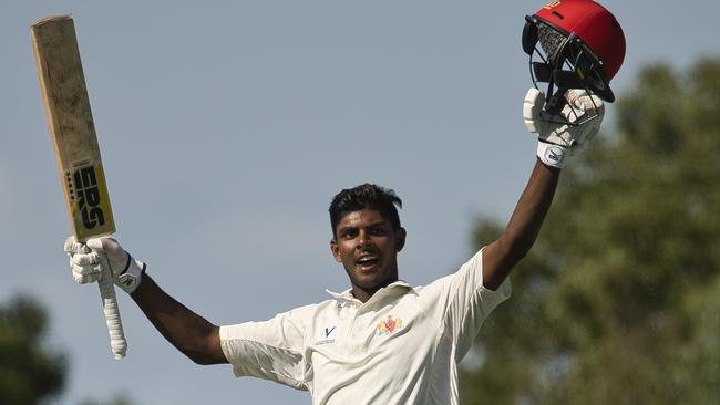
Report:
[{"label": "outstretched arm, bare skin plus white glove, holding the cricket bat", "polygon": [[145,263],[133,259],[115,239],[90,239],[85,245],[71,237],[65,241],[65,252],[79,283],[96,281],[100,266],[109,266],[115,284],[132,297],[168,342],[195,363],[227,363],[219,328],[163,291],[145,273]]}]

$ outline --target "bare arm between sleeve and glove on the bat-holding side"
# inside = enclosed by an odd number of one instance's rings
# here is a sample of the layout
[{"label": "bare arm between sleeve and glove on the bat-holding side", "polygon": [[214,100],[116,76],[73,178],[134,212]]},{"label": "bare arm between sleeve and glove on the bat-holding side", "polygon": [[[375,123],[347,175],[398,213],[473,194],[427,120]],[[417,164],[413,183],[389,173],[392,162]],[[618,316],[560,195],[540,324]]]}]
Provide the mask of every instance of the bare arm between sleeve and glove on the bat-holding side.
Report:
[{"label": "bare arm between sleeve and glove on the bat-holding side", "polygon": [[146,273],[131,294],[145,316],[177,350],[197,364],[227,363],[219,328],[163,291]]}]

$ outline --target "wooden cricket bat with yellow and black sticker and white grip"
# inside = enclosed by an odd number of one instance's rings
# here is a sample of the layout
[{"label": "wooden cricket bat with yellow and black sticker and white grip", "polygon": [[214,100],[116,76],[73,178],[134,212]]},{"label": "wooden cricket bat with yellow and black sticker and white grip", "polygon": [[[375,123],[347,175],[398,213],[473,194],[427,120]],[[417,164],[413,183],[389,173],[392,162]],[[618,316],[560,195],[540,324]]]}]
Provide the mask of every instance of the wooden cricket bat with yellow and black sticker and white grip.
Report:
[{"label": "wooden cricket bat with yellow and black sticker and white grip", "polygon": [[[30,32],[45,118],[75,239],[84,242],[112,235],[115,222],[73,20],[70,15],[45,18],[32,24]],[[110,345],[115,359],[122,359],[127,342],[110,267],[106,262],[102,264],[99,285]]]}]

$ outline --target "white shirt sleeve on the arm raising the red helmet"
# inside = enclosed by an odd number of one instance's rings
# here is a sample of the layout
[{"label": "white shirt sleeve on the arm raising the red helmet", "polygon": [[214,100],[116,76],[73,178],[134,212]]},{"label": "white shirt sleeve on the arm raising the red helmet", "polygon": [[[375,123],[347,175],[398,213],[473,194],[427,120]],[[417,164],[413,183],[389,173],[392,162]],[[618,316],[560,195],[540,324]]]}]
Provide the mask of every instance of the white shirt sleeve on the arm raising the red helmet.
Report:
[{"label": "white shirt sleeve on the arm raising the red helmet", "polygon": [[460,361],[470,350],[487,315],[510,298],[510,278],[495,291],[485,288],[483,250],[480,250],[455,273],[441,280],[445,295],[443,326],[455,344],[456,360]]}]

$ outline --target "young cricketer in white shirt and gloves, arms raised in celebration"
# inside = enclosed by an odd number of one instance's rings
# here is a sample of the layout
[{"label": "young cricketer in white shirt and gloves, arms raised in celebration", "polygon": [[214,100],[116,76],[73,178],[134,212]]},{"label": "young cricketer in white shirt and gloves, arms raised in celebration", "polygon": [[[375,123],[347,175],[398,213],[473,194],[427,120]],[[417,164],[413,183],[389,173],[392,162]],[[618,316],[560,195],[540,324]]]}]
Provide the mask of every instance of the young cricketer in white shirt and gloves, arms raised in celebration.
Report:
[{"label": "young cricketer in white shirt and gloves, arms raised in celebration", "polygon": [[330,250],[350,289],[265,322],[214,325],[165,293],[145,264],[111,238],[86,245],[68,239],[73,276],[80,283],[96,281],[99,256],[106,256],[115,283],[189,359],[230,363],[237,376],[307,390],[313,404],[457,404],[457,364],[485,318],[510,297],[507,274],[537,237],[564,155],[599,128],[601,101],[575,90],[567,98],[576,112],[592,110],[599,118],[579,126],[549,122],[541,114],[543,94],[532,89],[524,117],[539,135],[538,160],[507,228],[455,273],[429,285],[399,280],[401,201],[368,184],[342,190],[330,207]]}]

